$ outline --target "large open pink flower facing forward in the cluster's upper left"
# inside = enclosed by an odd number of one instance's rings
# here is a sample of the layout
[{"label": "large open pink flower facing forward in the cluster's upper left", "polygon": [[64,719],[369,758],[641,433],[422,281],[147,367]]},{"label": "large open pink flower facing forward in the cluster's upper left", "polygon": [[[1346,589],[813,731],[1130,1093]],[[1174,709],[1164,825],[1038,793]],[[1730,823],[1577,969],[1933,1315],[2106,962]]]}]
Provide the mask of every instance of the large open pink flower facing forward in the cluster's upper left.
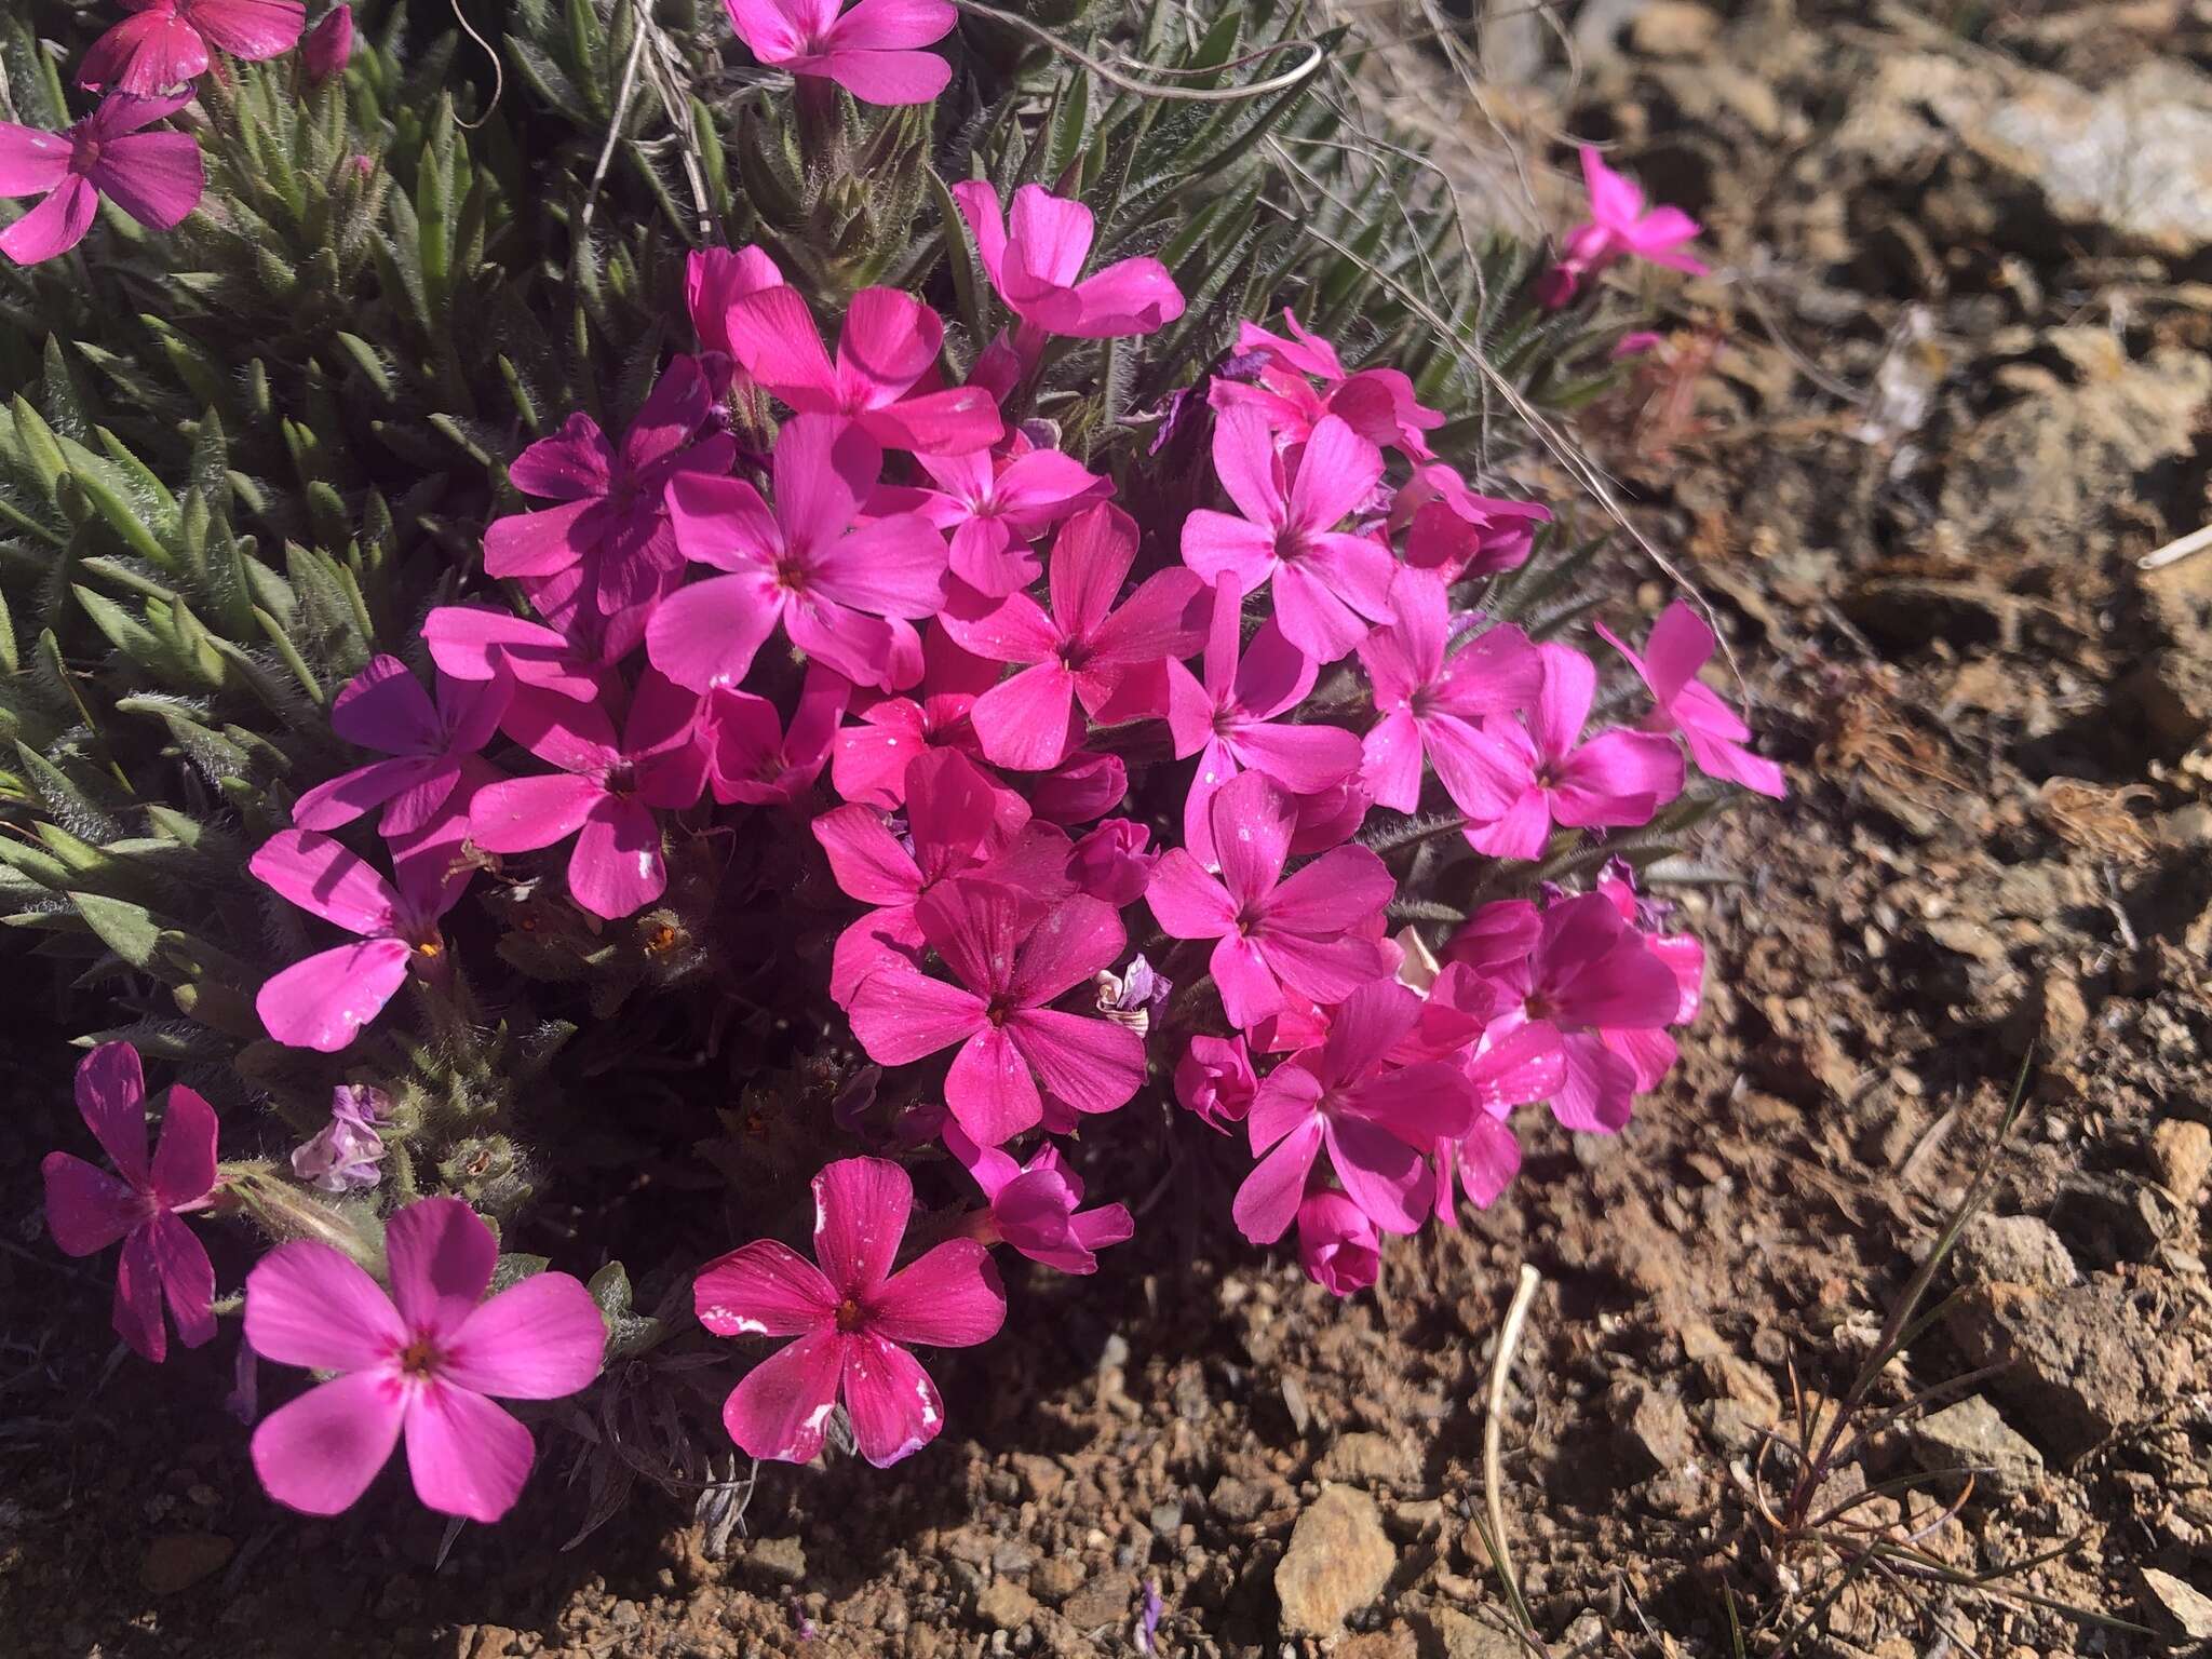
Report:
[{"label": "large open pink flower facing forward in the cluster's upper left", "polygon": [[728,575],[692,582],[646,624],[653,666],[679,686],[734,686],[776,622],[792,646],[860,686],[887,686],[885,617],[945,602],[945,538],[916,513],[854,529],[876,484],[876,440],[834,416],[794,416],[772,458],[776,504],[741,478],[686,476],[668,489],[684,557]]}]

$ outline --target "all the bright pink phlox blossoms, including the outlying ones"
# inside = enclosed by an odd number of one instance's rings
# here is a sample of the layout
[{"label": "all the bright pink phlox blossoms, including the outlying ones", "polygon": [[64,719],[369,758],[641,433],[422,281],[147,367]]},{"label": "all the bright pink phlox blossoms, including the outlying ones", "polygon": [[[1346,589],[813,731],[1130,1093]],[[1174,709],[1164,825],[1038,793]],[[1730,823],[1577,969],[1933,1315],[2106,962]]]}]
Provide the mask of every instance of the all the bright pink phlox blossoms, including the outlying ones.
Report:
[{"label": "all the bright pink phlox blossoms, including the outlying ones", "polygon": [[[763,66],[865,102],[947,84],[922,51],[951,29],[940,0],[728,9]],[[197,144],[144,128],[210,53],[343,69],[349,15],[303,24],[290,0],[133,0],[84,62],[106,91],[86,122],[0,126],[0,192],[44,197],[0,252],[71,248],[102,195],[177,223]],[[1595,223],[1548,299],[1621,254],[1697,268],[1694,226],[1586,166]],[[250,860],[272,914],[336,929],[265,980],[261,1024],[341,1053],[409,987],[449,995],[445,929],[487,869],[557,874],[602,925],[668,898],[703,836],[805,854],[841,905],[814,958],[823,1048],[883,1068],[905,1110],[814,1177],[812,1261],[759,1239],[695,1276],[701,1327],[785,1343],[726,1400],[754,1458],[810,1460],[841,1425],[876,1464],[927,1444],[945,1400],[911,1349],[1000,1329],[993,1250],[1088,1274],[1133,1237],[1066,1141],[1146,1091],[1243,1141],[1234,1225],[1296,1230],[1336,1294],[1374,1283],[1385,1234],[1493,1203],[1517,1113],[1621,1130],[1697,1013],[1703,953],[1626,863],[1584,889],[1537,865],[1652,823],[1692,768],[1783,792],[1701,679],[1717,641],[1690,606],[1639,646],[1604,635],[1626,701],[1582,648],[1489,615],[1551,513],[1455,471],[1405,374],[1345,367],[1294,312],[1241,323],[1164,418],[1192,442],[1119,471],[1062,449],[1031,416],[1055,341],[1141,338],[1183,296],[1155,259],[1093,259],[1079,201],[951,199],[1009,319],[964,372],[914,294],[821,316],[759,248],[692,254],[695,347],[624,429],[571,414],[511,460],[487,580],[422,619],[420,675],[376,657],[332,699],[358,763]],[[1416,865],[1469,860],[1533,896],[1436,922]],[[84,1060],[77,1104],[113,1170],[46,1159],[55,1241],[122,1245],[115,1327],[139,1354],[170,1325],[210,1340],[215,1270],[184,1217],[230,1203],[215,1110],[173,1086],[148,1155],[124,1044]],[[347,1084],[290,1172],[369,1214],[411,1168],[398,1135]],[[922,1210],[909,1164],[971,1197]],[[538,1272],[487,1298],[498,1241],[453,1197],[349,1237],[290,1239],[248,1276],[250,1349],[325,1378],[254,1431],[263,1484],[336,1513],[405,1442],[422,1502],[495,1520],[533,1442],[493,1400],[591,1383],[593,1296]]]}]

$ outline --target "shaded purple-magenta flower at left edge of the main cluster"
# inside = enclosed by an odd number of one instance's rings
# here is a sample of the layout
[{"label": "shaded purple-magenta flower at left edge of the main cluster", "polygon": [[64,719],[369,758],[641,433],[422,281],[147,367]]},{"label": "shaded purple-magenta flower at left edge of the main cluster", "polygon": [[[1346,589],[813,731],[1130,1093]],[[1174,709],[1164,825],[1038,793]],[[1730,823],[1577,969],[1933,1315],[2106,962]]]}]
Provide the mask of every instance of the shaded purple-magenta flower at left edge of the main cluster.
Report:
[{"label": "shaded purple-magenta flower at left edge of the main cluster", "polygon": [[374,657],[330,703],[330,728],[389,761],[369,761],[319,783],[292,805],[301,830],[338,830],[380,805],[385,836],[427,830],[453,799],[462,761],[500,728],[511,681],[438,675],[438,703],[398,657]]}]

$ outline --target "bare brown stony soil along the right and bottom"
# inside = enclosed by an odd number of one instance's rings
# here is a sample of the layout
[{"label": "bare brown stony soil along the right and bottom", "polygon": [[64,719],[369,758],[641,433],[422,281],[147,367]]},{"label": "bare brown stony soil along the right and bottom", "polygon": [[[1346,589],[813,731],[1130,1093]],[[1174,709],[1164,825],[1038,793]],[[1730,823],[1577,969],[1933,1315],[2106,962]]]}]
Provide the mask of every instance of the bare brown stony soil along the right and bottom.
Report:
[{"label": "bare brown stony soil along the right and bottom", "polygon": [[[1646,0],[1573,29],[1573,104],[1548,33],[1486,42],[1531,53],[1491,113],[1617,139],[1712,226],[1725,270],[1668,283],[1670,349],[1710,347],[1712,374],[1652,369],[1604,453],[1730,622],[1794,785],[1674,889],[1712,991],[1635,1126],[1537,1135],[1495,1210],[1398,1248],[1349,1303],[1210,1219],[1228,1166],[1186,1126],[1137,1245],[1082,1285],[1015,1274],[1006,1334],[933,1360],[953,1420],[929,1453],[763,1469],[721,1559],[644,1489],[562,1553],[582,1498],[542,1471],[440,1566],[392,1473],[334,1524],[261,1498],[217,1405],[228,1336],[159,1374],[91,1338],[106,1281],[51,1252],[31,1197],[69,1053],[31,1033],[7,1079],[33,1133],[7,1137],[0,1239],[0,1650],[1115,1655],[1141,1650],[1155,1586],[1159,1652],[1504,1659],[1473,1517],[1531,1263],[1502,1504],[1544,1639],[1723,1655],[1736,1619],[1772,1652],[1843,1557],[1776,1548],[1752,1493],[1790,1460],[1763,1429],[1792,1371],[1847,1387],[2037,1040],[1995,1221],[1874,1407],[2002,1365],[1978,1389],[2042,1467],[1986,1475],[1920,1542],[1951,1582],[1863,1571],[1796,1650],[2132,1655],[2203,1617],[2212,553],[2135,560],[2212,518],[2212,226],[2203,150],[2197,173],[2152,157],[2146,197],[2117,164],[2084,186],[2081,146],[2051,159],[2037,133],[2201,133],[2212,22],[2183,0]],[[1409,73],[1453,106],[1440,66]],[[1509,175],[1495,144],[1462,117],[1438,157]],[[1955,1460],[1898,1425],[1825,1502],[1882,1484],[1854,1520],[1902,1537],[1955,1491],[1905,1478]],[[1380,1588],[1356,1582],[1369,1555]],[[1332,1590],[1349,1632],[1296,1630]]]}]

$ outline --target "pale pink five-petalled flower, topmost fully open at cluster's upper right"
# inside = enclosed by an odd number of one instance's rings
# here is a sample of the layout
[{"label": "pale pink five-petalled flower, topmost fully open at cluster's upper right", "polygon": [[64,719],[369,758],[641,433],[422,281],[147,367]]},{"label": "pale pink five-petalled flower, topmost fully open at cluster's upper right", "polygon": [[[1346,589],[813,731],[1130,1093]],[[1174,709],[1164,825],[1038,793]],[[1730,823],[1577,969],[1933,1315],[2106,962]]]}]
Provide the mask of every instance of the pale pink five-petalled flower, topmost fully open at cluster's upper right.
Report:
[{"label": "pale pink five-petalled flower, topmost fully open at cluster's upper right", "polygon": [[1183,564],[1208,584],[1230,575],[1256,593],[1272,577],[1283,637],[1323,664],[1365,639],[1367,622],[1389,617],[1398,562],[1371,535],[1336,529],[1380,482],[1380,449],[1323,416],[1285,487],[1267,422],[1230,407],[1214,420],[1214,476],[1241,518],[1201,507],[1183,520]]}]

